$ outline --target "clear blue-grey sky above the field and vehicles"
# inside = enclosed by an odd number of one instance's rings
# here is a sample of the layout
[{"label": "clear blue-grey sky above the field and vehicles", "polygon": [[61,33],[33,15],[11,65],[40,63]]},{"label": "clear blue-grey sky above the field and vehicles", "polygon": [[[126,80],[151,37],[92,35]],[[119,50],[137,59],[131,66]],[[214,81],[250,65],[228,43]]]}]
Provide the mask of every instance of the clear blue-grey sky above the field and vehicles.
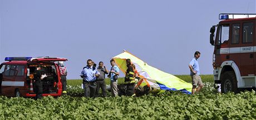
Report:
[{"label": "clear blue-grey sky above the field and vehicles", "polygon": [[256,13],[255,6],[255,0],[0,0],[0,62],[67,58],[67,79],[80,79],[87,59],[110,69],[110,59],[127,50],[164,72],[189,75],[200,51],[200,74],[213,74],[210,27],[219,13]]}]

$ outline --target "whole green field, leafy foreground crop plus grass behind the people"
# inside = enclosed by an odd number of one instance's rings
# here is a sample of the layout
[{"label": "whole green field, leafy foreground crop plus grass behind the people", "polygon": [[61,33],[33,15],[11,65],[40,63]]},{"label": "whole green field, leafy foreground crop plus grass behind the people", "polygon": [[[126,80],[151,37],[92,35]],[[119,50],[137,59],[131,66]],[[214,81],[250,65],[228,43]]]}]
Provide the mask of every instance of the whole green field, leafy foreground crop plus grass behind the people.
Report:
[{"label": "whole green field, leafy foreground crop plus grass behind the people", "polygon": [[[179,75],[184,81],[190,76]],[[141,97],[81,97],[82,80],[68,80],[68,95],[42,100],[0,96],[0,119],[256,119],[256,93],[221,94],[202,75],[201,93],[179,91]],[[120,80],[121,82],[121,80]],[[78,96],[78,97],[75,97]]]}]

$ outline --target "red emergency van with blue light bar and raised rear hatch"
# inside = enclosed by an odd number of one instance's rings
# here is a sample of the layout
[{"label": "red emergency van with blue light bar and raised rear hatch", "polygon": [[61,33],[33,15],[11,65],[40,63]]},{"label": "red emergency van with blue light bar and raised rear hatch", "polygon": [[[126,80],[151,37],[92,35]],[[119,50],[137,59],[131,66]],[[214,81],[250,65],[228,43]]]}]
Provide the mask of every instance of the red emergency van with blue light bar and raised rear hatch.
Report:
[{"label": "red emergency van with blue light bar and raised rear hatch", "polygon": [[7,57],[0,65],[0,93],[3,96],[35,97],[33,72],[40,65],[43,75],[43,96],[60,96],[62,82],[57,61],[67,61],[65,58],[31,58]]}]

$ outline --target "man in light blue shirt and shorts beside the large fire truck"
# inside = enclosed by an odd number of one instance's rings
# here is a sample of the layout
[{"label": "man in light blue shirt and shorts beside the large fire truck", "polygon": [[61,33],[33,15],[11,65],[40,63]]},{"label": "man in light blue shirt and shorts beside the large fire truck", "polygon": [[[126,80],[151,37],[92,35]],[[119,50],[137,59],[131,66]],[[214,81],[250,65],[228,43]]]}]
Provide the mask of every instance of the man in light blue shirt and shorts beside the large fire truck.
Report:
[{"label": "man in light blue shirt and shorts beside the large fire truck", "polygon": [[[198,58],[200,57],[200,52],[196,51],[194,54],[194,58],[189,63],[190,75],[192,78],[192,95],[195,95],[195,92],[200,92],[201,88],[203,88],[203,82],[200,77],[200,70],[198,64]],[[198,88],[196,89],[196,86]]]}]

